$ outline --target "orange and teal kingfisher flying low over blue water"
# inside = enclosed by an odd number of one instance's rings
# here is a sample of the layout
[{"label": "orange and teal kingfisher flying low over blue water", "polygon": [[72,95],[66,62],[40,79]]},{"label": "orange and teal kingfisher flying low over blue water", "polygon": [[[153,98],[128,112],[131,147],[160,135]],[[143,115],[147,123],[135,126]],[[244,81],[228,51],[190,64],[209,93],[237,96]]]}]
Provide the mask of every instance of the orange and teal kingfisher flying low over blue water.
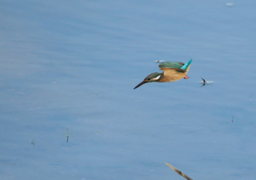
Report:
[{"label": "orange and teal kingfisher flying low over blue water", "polygon": [[159,64],[159,67],[164,72],[153,72],[149,74],[141,83],[136,85],[134,89],[148,82],[174,82],[180,80],[182,77],[187,79],[189,78],[189,76],[187,76],[187,72],[190,68],[191,62],[192,59],[185,64],[183,62],[175,61],[162,62]]}]

